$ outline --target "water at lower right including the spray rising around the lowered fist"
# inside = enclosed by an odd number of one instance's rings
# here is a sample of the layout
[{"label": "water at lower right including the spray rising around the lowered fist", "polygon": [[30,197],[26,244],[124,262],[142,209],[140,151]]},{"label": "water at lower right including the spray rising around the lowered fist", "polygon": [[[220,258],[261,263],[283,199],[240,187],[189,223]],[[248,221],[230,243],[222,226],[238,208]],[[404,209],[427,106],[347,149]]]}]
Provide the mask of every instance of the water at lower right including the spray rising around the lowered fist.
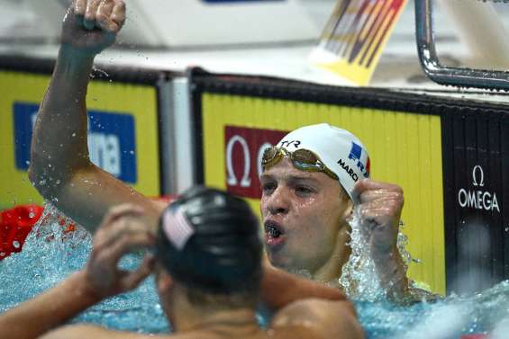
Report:
[{"label": "water at lower right including the spray rising around the lowered fist", "polygon": [[[489,339],[507,338],[509,330],[509,281],[475,296],[450,296],[434,303],[396,306],[385,299],[375,263],[369,253],[371,230],[361,227],[359,210],[350,221],[349,261],[343,265],[341,286],[358,310],[359,322],[368,338],[459,339],[460,335],[491,333]],[[400,223],[397,247],[406,271],[409,263],[420,263],[406,250],[407,236]],[[487,337],[486,337],[487,339]]]}]

